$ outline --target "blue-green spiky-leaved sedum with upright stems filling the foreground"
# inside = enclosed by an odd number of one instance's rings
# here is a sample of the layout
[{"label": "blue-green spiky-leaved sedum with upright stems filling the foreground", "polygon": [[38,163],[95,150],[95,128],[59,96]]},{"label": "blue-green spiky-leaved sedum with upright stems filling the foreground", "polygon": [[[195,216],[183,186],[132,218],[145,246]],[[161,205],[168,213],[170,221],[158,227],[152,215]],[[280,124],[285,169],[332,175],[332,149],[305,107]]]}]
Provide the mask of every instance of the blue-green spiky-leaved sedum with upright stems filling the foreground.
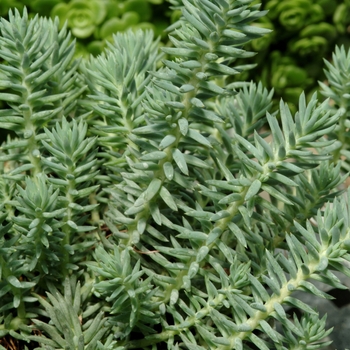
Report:
[{"label": "blue-green spiky-leaved sedum with upright stems filling the foreground", "polygon": [[259,5],[171,3],[172,47],[129,31],[82,63],[58,20],[1,20],[0,337],[321,349],[331,330],[295,291],[350,276],[350,54],[327,64],[332,104],[274,111],[273,91],[228,83],[268,32]]}]

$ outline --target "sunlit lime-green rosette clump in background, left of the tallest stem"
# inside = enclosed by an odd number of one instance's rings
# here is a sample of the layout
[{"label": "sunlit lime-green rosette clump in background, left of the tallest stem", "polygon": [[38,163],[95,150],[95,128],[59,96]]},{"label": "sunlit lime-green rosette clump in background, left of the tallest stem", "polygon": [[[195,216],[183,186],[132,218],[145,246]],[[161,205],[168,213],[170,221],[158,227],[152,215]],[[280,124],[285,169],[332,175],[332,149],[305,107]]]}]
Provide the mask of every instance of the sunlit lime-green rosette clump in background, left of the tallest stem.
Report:
[{"label": "sunlit lime-green rosette clump in background, left of the tallest stem", "polygon": [[54,6],[51,17],[59,17],[61,26],[68,22],[72,34],[81,40],[78,42],[80,55],[97,55],[107,41],[112,41],[113,34],[130,28],[151,29],[156,35],[162,35],[168,25],[165,8],[162,18],[153,14],[162,3],[163,0],[71,0]]}]

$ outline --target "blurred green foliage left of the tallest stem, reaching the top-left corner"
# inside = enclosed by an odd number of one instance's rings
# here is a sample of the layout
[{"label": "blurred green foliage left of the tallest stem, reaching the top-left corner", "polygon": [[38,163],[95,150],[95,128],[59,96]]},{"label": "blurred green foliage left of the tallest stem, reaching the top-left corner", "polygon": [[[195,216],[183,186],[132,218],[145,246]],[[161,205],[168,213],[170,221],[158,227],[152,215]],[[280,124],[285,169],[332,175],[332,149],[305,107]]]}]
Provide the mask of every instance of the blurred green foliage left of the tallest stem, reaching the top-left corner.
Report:
[{"label": "blurred green foliage left of the tallest stem, reaching the top-left corner", "polygon": [[164,29],[169,25],[170,11],[163,0],[4,0],[0,16],[9,9],[28,9],[29,17],[36,14],[59,18],[60,28],[67,22],[73,38],[77,39],[77,56],[88,58],[100,54],[113,34],[130,28],[153,30],[166,39]]}]

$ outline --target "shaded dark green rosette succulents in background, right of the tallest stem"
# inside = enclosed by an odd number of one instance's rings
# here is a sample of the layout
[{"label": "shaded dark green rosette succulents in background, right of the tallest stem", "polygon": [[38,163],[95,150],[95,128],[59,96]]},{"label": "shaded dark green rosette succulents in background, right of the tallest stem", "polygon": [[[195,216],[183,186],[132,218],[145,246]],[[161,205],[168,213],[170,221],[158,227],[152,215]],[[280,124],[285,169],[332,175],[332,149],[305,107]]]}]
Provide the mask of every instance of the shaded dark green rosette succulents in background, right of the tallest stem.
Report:
[{"label": "shaded dark green rosette succulents in background, right of the tallest stem", "polygon": [[[322,58],[331,59],[335,45],[349,47],[346,34],[349,1],[262,0],[268,10],[255,25],[272,29],[249,45],[259,54],[257,67],[246,72],[247,80],[261,80],[275,89],[275,104],[282,97],[296,112],[302,91],[311,97],[318,80],[325,80]],[[319,95],[319,98],[322,96]]]}]

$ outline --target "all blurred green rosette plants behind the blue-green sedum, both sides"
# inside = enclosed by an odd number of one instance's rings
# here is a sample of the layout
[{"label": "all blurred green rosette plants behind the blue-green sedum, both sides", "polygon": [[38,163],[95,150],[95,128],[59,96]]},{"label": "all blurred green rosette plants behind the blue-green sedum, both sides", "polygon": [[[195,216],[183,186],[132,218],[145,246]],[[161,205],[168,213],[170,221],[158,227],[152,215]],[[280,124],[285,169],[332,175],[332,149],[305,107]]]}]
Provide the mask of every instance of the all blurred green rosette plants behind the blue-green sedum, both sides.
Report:
[{"label": "all blurred green rosette plants behind the blue-green sedum, both sides", "polygon": [[[178,1],[169,2],[178,4]],[[259,54],[251,59],[257,67],[246,71],[244,79],[262,81],[269,89],[273,87],[274,103],[277,105],[283,97],[295,112],[300,93],[305,90],[311,97],[318,80],[325,79],[322,58],[331,60],[335,45],[349,47],[350,5],[348,1],[331,0],[263,0],[261,3],[262,9],[269,12],[255,25],[273,31],[248,44],[247,48]],[[58,16],[61,25],[68,20],[73,36],[78,39],[77,55],[85,57],[101,53],[106,40],[128,28],[152,29],[166,42],[163,30],[179,13],[162,0],[6,0],[0,14],[6,16],[10,8],[22,11],[23,6],[27,6],[31,15]]]}]

